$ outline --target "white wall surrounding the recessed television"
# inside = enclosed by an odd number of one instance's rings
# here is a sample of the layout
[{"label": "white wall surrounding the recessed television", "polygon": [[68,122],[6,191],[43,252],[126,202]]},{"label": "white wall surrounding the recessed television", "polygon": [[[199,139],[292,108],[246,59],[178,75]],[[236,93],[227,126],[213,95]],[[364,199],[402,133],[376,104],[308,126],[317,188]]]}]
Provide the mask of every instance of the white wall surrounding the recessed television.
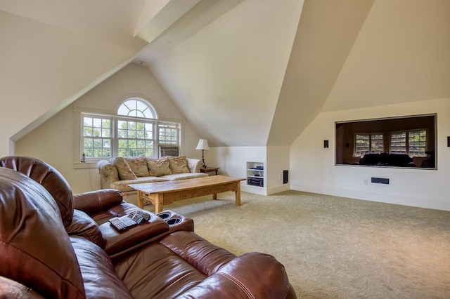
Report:
[{"label": "white wall surrounding the recessed television", "polygon": [[[437,113],[437,170],[335,166],[335,121]],[[450,211],[450,98],[323,112],[290,147],[291,189]],[[323,148],[323,140],[330,147]],[[389,185],[371,177],[389,178]],[[364,180],[368,179],[368,185]]]}]

